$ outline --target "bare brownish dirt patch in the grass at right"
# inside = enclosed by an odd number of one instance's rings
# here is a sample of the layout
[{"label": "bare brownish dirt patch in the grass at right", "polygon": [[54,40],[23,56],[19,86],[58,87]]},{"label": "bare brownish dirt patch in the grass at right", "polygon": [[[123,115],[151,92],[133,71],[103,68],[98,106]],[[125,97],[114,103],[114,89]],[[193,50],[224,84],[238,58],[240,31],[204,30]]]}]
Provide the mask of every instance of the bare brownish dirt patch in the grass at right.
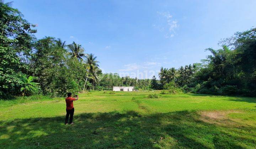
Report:
[{"label": "bare brownish dirt patch in the grass at right", "polygon": [[207,123],[224,125],[224,126],[234,126],[242,125],[239,120],[228,117],[231,113],[242,113],[238,110],[228,110],[228,111],[202,111],[200,112],[200,119]]}]

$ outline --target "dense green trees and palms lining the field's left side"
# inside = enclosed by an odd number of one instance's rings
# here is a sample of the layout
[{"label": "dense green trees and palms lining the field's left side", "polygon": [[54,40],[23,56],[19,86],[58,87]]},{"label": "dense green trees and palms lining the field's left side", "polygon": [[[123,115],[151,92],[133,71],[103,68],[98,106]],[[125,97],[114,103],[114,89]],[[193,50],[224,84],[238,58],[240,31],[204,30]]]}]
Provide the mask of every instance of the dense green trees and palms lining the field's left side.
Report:
[{"label": "dense green trees and palms lining the field's left side", "polygon": [[93,54],[61,39],[36,39],[35,25],[0,1],[0,95],[63,96],[94,88],[101,70]]}]

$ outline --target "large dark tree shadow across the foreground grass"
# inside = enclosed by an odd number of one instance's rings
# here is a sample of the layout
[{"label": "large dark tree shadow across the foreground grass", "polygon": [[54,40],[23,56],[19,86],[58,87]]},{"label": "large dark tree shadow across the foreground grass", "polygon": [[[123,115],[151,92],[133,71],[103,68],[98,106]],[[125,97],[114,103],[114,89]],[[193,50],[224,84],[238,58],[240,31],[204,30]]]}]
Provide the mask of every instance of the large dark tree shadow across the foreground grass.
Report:
[{"label": "large dark tree shadow across the foreground grass", "polygon": [[[196,111],[140,115],[84,113],[64,117],[0,121],[2,148],[243,148],[256,147],[256,128],[219,127],[199,119]],[[254,139],[252,139],[254,138]],[[234,141],[234,139],[239,141]]]}]

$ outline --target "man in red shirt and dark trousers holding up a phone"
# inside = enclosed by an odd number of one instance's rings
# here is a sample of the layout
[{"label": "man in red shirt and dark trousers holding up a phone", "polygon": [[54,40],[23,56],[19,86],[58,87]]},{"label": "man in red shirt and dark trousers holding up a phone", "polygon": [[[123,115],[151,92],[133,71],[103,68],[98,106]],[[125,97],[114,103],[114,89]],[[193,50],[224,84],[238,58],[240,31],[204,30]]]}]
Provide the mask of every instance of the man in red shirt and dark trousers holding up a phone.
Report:
[{"label": "man in red shirt and dark trousers holding up a phone", "polygon": [[73,115],[74,115],[74,105],[73,101],[78,100],[78,95],[75,95],[76,98],[71,97],[72,93],[68,93],[68,97],[66,98],[66,120],[65,125],[68,125],[68,118],[70,115],[69,123],[70,125],[73,125]]}]

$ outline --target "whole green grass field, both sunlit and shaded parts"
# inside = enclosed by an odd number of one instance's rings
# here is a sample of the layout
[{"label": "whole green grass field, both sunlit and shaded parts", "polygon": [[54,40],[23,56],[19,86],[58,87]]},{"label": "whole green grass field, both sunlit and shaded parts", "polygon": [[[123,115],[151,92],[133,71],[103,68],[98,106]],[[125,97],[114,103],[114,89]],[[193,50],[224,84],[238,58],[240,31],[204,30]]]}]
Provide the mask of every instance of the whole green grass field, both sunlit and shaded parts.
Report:
[{"label": "whole green grass field, both sunlit and shaded parts", "polygon": [[256,148],[256,98],[89,92],[0,100],[1,148]]}]

